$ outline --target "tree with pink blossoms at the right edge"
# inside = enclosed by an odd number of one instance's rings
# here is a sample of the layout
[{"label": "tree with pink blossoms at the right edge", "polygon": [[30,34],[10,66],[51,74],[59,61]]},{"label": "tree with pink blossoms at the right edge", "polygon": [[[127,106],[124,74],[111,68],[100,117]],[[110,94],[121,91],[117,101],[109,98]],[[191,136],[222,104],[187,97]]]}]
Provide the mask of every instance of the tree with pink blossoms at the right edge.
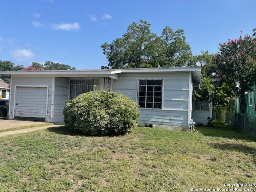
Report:
[{"label": "tree with pink blossoms at the right edge", "polygon": [[220,43],[216,55],[217,72],[222,82],[239,96],[240,111],[246,112],[245,91],[250,90],[256,72],[256,40],[240,35],[238,39]]}]

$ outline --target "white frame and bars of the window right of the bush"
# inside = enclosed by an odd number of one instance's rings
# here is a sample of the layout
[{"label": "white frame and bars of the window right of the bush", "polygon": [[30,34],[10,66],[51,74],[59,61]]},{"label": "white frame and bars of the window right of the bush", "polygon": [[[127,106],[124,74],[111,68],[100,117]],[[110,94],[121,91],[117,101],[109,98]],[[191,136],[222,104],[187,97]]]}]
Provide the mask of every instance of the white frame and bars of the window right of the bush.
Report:
[{"label": "white frame and bars of the window right of the bush", "polygon": [[[146,107],[146,100],[144,102],[145,106],[140,106],[140,108],[144,108],[144,109],[162,109],[163,105],[164,105],[164,78],[137,78],[137,97],[136,97],[136,103],[139,105],[139,94],[140,94],[140,80],[162,80],[162,90],[161,90],[161,107],[160,108],[154,108],[154,104],[159,103],[159,102],[154,102],[154,93],[155,90],[154,88],[156,87],[156,85],[154,85],[153,88],[153,101],[152,101],[152,108],[151,107]],[[146,91],[145,91],[146,92]],[[146,96],[145,96],[146,97]]]}]

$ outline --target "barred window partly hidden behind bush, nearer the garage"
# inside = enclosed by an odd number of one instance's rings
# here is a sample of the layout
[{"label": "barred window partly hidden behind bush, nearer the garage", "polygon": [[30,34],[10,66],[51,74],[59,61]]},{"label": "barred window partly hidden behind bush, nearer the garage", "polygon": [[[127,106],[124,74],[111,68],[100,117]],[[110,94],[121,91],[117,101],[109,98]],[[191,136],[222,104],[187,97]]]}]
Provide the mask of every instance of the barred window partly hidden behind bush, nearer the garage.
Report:
[{"label": "barred window partly hidden behind bush, nearer the garage", "polygon": [[82,93],[93,91],[93,79],[71,79],[69,99],[74,99]]}]

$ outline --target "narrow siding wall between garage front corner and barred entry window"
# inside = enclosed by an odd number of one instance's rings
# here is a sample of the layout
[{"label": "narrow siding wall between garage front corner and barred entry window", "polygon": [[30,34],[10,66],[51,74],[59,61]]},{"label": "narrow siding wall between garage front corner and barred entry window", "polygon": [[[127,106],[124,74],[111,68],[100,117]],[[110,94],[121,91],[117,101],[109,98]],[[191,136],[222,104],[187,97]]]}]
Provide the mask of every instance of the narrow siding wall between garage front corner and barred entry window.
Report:
[{"label": "narrow siding wall between garage front corner and barred entry window", "polygon": [[51,122],[64,122],[63,110],[68,99],[68,79],[55,78],[54,113]]}]

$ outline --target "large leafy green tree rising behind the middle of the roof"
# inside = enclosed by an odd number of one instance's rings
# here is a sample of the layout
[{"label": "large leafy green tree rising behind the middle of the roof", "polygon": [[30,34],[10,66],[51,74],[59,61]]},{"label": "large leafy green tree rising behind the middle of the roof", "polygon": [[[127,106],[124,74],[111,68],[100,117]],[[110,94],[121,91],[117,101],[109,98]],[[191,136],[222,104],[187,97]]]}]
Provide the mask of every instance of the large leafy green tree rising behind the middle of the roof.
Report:
[{"label": "large leafy green tree rising behind the middle of the roof", "polygon": [[108,59],[108,66],[102,68],[182,67],[192,61],[184,30],[166,26],[157,36],[143,20],[130,24],[122,38],[101,47]]}]

